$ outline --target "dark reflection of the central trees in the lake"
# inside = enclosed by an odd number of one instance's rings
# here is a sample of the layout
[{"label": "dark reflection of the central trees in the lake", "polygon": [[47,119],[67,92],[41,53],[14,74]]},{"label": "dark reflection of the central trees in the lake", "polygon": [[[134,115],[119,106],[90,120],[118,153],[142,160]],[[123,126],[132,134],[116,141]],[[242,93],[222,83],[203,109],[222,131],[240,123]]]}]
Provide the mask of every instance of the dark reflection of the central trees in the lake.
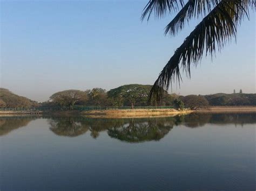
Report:
[{"label": "dark reflection of the central trees in the lake", "polygon": [[49,119],[50,130],[59,136],[76,137],[90,130],[91,137],[97,138],[99,132],[108,130],[109,136],[127,142],[160,140],[173,128],[174,123],[173,117],[131,119],[57,117]]}]

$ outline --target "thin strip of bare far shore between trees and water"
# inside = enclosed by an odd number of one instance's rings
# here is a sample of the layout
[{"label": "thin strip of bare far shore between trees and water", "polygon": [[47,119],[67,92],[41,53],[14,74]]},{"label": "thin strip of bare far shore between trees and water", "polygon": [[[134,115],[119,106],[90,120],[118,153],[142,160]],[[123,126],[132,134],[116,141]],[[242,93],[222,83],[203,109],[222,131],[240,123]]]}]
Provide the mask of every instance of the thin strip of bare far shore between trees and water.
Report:
[{"label": "thin strip of bare far shore between trees and water", "polygon": [[208,107],[198,110],[176,109],[123,109],[123,110],[55,110],[55,111],[0,111],[0,116],[46,115],[46,116],[79,116],[102,118],[140,118],[140,117],[170,117],[175,115],[196,113],[245,113],[256,112],[255,106],[225,106]]}]

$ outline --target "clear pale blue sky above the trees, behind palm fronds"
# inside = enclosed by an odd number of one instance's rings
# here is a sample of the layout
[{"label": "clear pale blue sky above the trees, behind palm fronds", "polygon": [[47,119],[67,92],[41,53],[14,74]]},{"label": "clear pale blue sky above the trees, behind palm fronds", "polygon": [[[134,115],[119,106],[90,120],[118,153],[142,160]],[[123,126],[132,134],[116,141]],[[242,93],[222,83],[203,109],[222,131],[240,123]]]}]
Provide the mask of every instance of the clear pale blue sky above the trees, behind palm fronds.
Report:
[{"label": "clear pale blue sky above the trees, behind palm fronds", "polygon": [[[0,86],[36,101],[66,89],[153,84],[197,20],[164,36],[173,15],[140,19],[146,0],[1,2]],[[255,12],[216,56],[174,84],[180,95],[255,93]]]}]

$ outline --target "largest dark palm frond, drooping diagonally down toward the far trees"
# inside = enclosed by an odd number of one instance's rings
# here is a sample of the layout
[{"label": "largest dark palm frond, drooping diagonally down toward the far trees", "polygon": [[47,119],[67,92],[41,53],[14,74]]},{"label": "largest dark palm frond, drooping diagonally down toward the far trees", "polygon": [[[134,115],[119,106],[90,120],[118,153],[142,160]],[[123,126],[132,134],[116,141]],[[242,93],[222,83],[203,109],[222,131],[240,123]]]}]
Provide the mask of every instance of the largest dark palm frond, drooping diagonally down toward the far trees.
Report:
[{"label": "largest dark palm frond, drooping diagonally down toward the far trees", "polygon": [[197,66],[204,52],[213,56],[216,49],[221,51],[227,41],[236,38],[237,25],[244,16],[248,17],[250,7],[255,9],[254,0],[220,1],[176,49],[154,82],[149,102],[155,100],[160,103],[163,90],[168,90],[175,80],[180,83],[180,69],[190,77],[191,64]]}]

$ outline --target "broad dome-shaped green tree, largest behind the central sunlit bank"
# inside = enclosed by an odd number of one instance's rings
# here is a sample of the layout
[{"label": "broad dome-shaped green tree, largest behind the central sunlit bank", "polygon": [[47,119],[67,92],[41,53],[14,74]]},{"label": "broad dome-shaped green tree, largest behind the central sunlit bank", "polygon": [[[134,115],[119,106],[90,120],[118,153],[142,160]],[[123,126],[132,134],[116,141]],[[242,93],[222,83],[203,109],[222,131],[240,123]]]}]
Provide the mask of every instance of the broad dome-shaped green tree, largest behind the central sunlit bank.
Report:
[{"label": "broad dome-shaped green tree, largest behind the central sunlit bank", "polygon": [[133,109],[136,103],[139,103],[139,105],[147,104],[151,87],[151,85],[141,84],[124,85],[111,89],[107,92],[107,96],[114,101],[118,101],[114,104],[118,104],[118,106],[130,104],[131,109]]}]

